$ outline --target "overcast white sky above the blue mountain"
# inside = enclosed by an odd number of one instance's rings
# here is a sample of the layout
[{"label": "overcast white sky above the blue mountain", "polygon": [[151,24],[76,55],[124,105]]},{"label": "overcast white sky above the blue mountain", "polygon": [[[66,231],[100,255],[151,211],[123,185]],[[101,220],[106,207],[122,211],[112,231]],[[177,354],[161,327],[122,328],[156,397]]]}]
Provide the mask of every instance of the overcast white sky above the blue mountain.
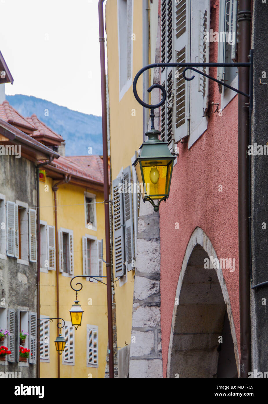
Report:
[{"label": "overcast white sky above the blue mountain", "polygon": [[101,115],[98,0],[0,0],[0,16],[7,95]]}]

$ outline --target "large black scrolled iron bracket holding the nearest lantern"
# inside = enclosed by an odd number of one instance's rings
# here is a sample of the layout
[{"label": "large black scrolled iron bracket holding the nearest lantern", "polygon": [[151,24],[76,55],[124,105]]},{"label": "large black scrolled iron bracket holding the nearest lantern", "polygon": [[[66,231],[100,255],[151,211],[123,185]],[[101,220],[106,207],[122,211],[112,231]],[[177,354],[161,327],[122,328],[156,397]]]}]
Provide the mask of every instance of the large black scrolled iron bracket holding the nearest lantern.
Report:
[{"label": "large black scrolled iron bracket holding the nearest lantern", "polygon": [[[151,114],[150,114],[150,119],[152,122],[152,126],[151,129],[154,129],[154,109],[161,107],[161,105],[164,104],[164,102],[166,101],[166,89],[161,85],[161,84],[153,84],[152,86],[150,86],[148,88],[148,93],[150,93],[154,88],[159,88],[162,91],[162,99],[158,104],[147,104],[144,101],[142,101],[137,93],[137,81],[139,79],[139,76],[141,76],[141,74],[143,72],[145,72],[146,70],[149,69],[153,69],[154,67],[184,67],[182,75],[183,78],[187,81],[191,81],[193,80],[193,78],[195,78],[195,76],[192,77],[186,77],[185,73],[187,72],[187,70],[193,70],[193,72],[196,72],[198,74],[201,74],[202,76],[205,76],[207,78],[209,78],[210,80],[215,81],[218,84],[221,84],[224,87],[230,88],[231,90],[235,91],[238,94],[244,95],[245,97],[249,98],[249,109],[252,110],[252,106],[253,106],[253,49],[250,50],[249,52],[249,62],[244,62],[244,63],[214,63],[214,62],[208,62],[208,63],[152,63],[150,65],[144,66],[142,67],[142,69],[139,70],[139,72],[137,72],[134,80],[133,80],[133,93],[135,96],[135,99],[138,101],[139,104],[141,104],[143,107],[148,108],[151,110]],[[229,86],[229,84],[226,84],[198,69],[195,69],[195,67],[249,67],[249,94],[243,93],[243,91],[239,90],[238,88],[234,88],[232,86]]]}]

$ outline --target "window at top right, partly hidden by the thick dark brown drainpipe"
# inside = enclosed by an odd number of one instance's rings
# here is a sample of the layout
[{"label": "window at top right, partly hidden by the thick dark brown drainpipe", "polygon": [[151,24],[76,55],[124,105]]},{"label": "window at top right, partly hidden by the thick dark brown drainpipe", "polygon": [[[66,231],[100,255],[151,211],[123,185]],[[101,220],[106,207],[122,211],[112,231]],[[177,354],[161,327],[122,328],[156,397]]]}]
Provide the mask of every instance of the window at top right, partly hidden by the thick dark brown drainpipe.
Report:
[{"label": "window at top right, partly hidden by the thick dark brown drainpipe", "polygon": [[[228,32],[228,35],[225,34]],[[230,34],[231,33],[231,34]],[[237,24],[237,0],[220,0],[219,9],[219,42],[218,62],[231,63],[238,61],[238,24]],[[226,82],[233,87],[238,86],[238,72],[236,67],[218,67],[218,80]],[[236,93],[229,88],[219,85],[222,93],[220,107],[223,109]]]}]

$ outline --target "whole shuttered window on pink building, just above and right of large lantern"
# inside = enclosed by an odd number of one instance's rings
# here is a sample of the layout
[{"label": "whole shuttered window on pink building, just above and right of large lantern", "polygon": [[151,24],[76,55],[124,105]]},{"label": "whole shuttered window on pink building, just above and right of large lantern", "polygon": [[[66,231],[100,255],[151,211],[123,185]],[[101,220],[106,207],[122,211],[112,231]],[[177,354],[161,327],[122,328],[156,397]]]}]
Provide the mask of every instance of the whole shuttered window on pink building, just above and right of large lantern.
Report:
[{"label": "whole shuttered window on pink building, just above and right of large lantern", "polygon": [[[209,42],[204,41],[204,34],[209,23],[209,0],[162,0],[161,62],[208,62]],[[182,72],[183,67],[161,70],[161,84],[167,92],[161,107],[161,138],[168,141],[170,150],[188,135],[191,147],[208,125],[208,79],[196,74],[191,82],[185,81]],[[208,68],[203,72],[208,74]],[[186,74],[193,75],[191,71]]]}]

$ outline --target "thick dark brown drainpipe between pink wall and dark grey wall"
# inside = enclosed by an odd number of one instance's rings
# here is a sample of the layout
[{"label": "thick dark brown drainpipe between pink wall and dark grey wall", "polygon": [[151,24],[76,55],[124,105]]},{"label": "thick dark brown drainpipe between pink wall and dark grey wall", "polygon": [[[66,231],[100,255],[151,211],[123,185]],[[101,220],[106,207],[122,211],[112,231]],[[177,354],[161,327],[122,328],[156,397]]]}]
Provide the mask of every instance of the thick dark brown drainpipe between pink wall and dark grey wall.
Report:
[{"label": "thick dark brown drainpipe between pink wall and dark grey wall", "polygon": [[[248,62],[251,47],[251,0],[239,0],[238,61]],[[249,69],[238,68],[238,88],[249,94]],[[251,370],[250,275],[249,275],[249,107],[247,97],[238,95],[238,236],[240,306],[240,377]]]}]

